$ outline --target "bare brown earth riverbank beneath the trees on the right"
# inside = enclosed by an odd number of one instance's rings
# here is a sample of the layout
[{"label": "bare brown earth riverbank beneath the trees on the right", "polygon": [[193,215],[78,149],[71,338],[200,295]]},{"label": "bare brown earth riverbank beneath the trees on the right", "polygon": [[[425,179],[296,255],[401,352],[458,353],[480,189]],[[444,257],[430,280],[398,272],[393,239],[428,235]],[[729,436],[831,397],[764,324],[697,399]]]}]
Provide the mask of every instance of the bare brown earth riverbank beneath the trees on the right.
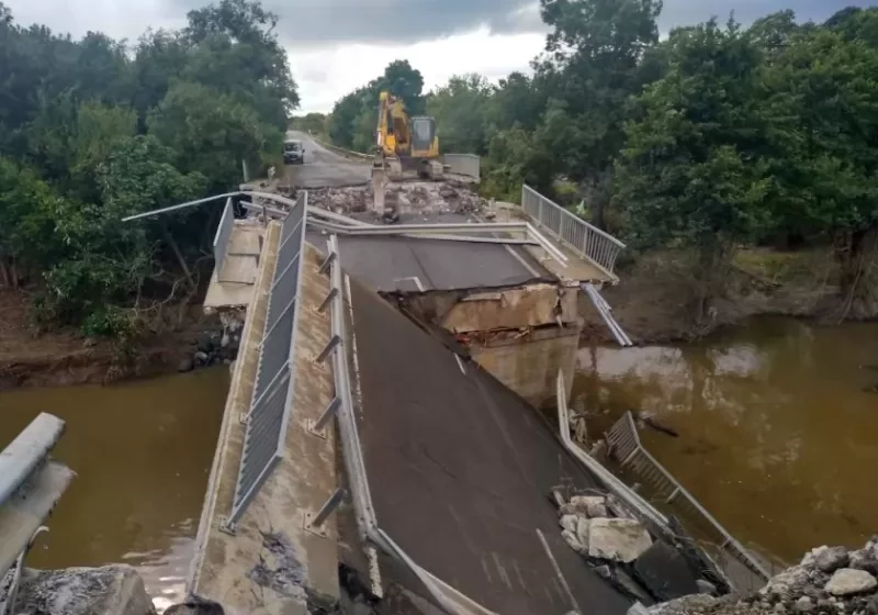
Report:
[{"label": "bare brown earth riverbank beneath the trees on the right", "polygon": [[[714,302],[709,321],[701,324],[695,323],[688,308],[693,276],[680,255],[642,256],[620,267],[618,275],[619,284],[606,288],[603,294],[635,345],[691,340],[759,315],[831,320],[841,304],[838,270],[828,250],[740,251],[724,295]],[[584,339],[615,342],[586,300],[581,311]]]}]

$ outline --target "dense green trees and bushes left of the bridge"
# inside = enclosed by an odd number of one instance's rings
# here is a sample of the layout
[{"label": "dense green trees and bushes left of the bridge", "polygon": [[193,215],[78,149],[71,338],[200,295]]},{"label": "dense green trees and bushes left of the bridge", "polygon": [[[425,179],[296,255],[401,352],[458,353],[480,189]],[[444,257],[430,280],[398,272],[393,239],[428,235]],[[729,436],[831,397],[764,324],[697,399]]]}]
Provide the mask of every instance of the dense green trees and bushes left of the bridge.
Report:
[{"label": "dense green trees and bushes left of the bridge", "polygon": [[124,337],[194,292],[215,208],[120,221],[273,164],[299,103],[275,24],[221,0],[128,46],[22,27],[0,3],[0,286],[30,286],[40,324]]}]

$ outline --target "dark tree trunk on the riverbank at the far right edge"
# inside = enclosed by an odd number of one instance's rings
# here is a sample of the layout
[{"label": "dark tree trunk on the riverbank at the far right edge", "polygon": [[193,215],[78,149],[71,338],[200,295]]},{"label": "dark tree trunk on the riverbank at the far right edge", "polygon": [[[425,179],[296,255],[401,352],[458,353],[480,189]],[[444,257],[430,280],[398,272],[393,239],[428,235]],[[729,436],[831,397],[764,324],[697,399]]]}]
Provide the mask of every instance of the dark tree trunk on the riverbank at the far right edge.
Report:
[{"label": "dark tree trunk on the riverbank at the far right edge", "polygon": [[842,234],[835,255],[841,267],[841,305],[833,320],[878,316],[878,225]]}]

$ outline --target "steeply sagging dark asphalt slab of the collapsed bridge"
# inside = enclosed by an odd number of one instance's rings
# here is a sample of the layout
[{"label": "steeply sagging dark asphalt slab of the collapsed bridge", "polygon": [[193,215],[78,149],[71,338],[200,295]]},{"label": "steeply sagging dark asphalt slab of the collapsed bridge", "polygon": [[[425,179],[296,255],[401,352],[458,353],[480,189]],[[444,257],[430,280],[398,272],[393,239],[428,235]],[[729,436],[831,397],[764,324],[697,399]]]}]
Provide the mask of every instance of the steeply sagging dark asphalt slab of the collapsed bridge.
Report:
[{"label": "steeply sagging dark asphalt slab of the collapsed bridge", "polygon": [[595,479],[524,400],[371,290],[353,280],[350,289],[357,416],[379,526],[495,613],[624,613],[630,602],[562,541],[548,499],[553,487]]}]

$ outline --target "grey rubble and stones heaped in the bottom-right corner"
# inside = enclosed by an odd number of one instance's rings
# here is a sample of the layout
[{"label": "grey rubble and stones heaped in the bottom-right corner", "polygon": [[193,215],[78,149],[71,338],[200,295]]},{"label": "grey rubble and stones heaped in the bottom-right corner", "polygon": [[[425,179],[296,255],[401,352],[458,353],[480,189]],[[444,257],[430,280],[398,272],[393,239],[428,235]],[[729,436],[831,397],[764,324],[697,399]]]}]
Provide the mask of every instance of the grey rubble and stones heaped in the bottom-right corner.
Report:
[{"label": "grey rubble and stones heaped in the bottom-right corner", "polygon": [[741,596],[686,596],[648,610],[651,615],[878,615],[878,536],[862,549],[818,547]]}]

